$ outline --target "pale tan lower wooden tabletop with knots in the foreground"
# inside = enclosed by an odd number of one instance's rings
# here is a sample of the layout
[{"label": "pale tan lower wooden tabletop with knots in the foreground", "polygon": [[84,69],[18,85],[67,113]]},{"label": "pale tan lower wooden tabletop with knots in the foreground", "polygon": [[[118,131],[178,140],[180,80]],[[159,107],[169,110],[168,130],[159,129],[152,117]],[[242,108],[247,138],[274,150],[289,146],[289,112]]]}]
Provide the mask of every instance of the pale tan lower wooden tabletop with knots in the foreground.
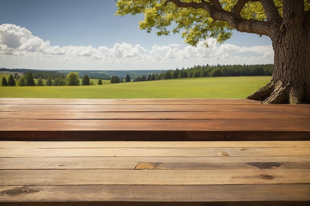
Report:
[{"label": "pale tan lower wooden tabletop with knots in the foreground", "polygon": [[0,205],[306,206],[309,174],[310,141],[0,141]]}]

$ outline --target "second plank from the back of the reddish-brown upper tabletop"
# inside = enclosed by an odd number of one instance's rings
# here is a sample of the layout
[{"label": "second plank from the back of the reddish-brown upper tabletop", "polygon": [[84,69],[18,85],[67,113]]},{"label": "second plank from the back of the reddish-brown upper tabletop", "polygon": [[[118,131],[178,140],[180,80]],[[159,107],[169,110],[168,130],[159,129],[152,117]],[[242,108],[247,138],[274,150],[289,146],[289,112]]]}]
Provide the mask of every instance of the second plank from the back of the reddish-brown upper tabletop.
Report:
[{"label": "second plank from the back of the reddish-brown upper tabletop", "polygon": [[6,112],[251,112],[260,109],[261,112],[299,112],[301,116],[310,114],[308,105],[14,105],[2,104],[1,111]]}]

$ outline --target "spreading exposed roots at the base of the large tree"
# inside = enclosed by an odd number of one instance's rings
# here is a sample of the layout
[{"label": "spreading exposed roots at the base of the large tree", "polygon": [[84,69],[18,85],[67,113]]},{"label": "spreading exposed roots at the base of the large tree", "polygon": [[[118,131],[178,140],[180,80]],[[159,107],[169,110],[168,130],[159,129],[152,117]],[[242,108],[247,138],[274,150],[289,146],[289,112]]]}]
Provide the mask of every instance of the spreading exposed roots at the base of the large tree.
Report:
[{"label": "spreading exposed roots at the base of the large tree", "polygon": [[310,84],[293,86],[282,82],[269,82],[247,99],[261,101],[262,104],[303,104],[310,103]]}]

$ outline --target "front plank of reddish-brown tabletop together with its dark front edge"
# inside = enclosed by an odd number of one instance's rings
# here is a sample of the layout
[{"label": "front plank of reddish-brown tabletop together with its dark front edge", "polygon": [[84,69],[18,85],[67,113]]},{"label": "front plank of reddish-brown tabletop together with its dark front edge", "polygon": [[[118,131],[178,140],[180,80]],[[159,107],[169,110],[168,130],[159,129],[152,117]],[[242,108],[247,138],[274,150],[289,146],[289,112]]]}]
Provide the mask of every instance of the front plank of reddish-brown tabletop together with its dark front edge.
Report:
[{"label": "front plank of reddish-brown tabletop together with its dark front edge", "polygon": [[0,140],[310,140],[310,119],[302,121],[2,119],[0,125]]}]

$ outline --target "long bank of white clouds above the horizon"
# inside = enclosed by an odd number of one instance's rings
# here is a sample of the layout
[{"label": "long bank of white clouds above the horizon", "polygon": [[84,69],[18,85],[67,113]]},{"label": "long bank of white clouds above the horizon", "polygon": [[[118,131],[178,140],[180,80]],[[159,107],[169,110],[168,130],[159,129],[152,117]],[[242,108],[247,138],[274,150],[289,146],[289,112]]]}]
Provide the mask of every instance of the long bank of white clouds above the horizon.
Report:
[{"label": "long bank of white clouds above the horizon", "polygon": [[[208,44],[206,47],[205,43]],[[115,43],[113,47],[52,46],[26,28],[0,25],[0,67],[34,69],[175,69],[205,64],[264,64],[273,62],[268,46],[240,47],[215,39],[198,45]]]}]

